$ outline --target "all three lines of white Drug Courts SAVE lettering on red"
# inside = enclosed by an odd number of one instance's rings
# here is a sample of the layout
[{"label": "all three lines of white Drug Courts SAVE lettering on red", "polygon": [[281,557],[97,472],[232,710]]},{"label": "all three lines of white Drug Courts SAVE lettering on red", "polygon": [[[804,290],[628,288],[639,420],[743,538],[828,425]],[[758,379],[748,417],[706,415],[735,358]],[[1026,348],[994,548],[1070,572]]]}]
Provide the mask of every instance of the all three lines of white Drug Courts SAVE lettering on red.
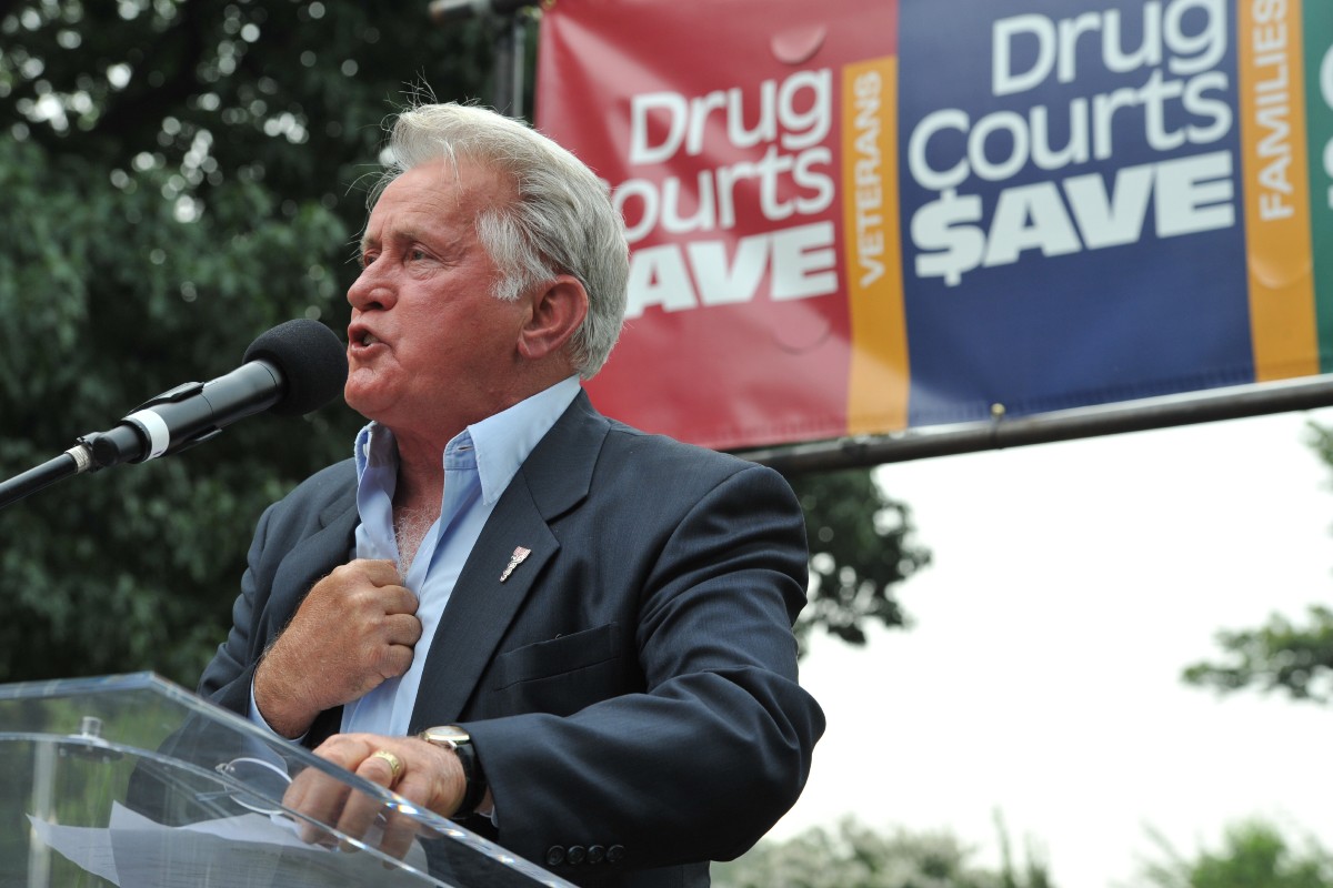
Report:
[{"label": "all three lines of white Drug Courts SAVE lettering on red", "polygon": [[[681,312],[750,302],[765,281],[773,301],[837,292],[833,224],[793,225],[826,212],[837,198],[833,150],[825,144],[833,125],[830,69],[765,80],[757,95],[740,87],[694,97],[653,92],[631,97],[629,105],[632,166],[725,157],[717,144],[706,144],[709,136],[716,141],[722,133],[732,154],[745,154],[688,177],[645,170],[616,188],[613,200],[632,245],[655,233],[704,236],[635,249],[628,317],[649,306]],[[788,226],[740,238],[706,237],[756,216]]]}]

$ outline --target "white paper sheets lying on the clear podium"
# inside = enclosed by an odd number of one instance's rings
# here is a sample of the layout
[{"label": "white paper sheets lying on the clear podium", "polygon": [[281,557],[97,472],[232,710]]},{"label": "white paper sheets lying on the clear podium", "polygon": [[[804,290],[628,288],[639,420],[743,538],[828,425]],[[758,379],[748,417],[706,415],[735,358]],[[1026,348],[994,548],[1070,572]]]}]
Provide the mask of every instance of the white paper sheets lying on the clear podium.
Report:
[{"label": "white paper sheets lying on the clear podium", "polygon": [[[164,827],[120,803],[111,824],[65,827],[28,816],[51,848],[88,872],[123,888],[323,888],[328,884],[420,885],[380,859],[311,845],[285,817],[247,813],[187,827]],[[405,861],[425,872],[425,853],[413,844]]]}]

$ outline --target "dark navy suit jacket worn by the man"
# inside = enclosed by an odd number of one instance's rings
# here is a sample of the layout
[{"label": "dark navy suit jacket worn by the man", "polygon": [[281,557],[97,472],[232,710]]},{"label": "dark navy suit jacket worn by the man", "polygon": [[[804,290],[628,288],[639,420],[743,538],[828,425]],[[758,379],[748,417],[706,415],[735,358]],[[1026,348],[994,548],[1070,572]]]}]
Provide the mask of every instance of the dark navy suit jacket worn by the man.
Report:
[{"label": "dark navy suit jacket worn by the man", "polygon": [[[247,711],[264,648],[349,559],[355,487],[347,461],[264,514],[203,695]],[[532,554],[501,582],[517,546]],[[580,393],[459,576],[412,731],[467,727],[499,828],[467,825],[515,853],[577,884],[706,885],[708,860],[792,805],[824,730],[796,676],[805,584],[780,475],[609,421]]]}]

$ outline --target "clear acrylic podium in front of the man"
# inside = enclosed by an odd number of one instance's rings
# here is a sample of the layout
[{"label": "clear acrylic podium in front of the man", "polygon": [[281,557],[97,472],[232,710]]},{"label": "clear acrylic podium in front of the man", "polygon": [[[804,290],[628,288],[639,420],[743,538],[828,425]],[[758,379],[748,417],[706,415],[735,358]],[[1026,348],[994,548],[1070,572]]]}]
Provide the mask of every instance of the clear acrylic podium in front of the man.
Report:
[{"label": "clear acrylic podium in front of the man", "polygon": [[[373,799],[377,827],[285,808],[308,768]],[[408,853],[381,831],[411,833]],[[149,672],[0,686],[0,888],[104,885],[569,883]]]}]

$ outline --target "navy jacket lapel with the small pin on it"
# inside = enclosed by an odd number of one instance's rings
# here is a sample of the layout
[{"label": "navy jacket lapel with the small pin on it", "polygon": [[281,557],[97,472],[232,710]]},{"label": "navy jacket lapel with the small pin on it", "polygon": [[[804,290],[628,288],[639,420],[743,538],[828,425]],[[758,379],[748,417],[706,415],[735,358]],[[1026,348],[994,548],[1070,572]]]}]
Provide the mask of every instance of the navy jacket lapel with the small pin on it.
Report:
[{"label": "navy jacket lapel with the small pin on it", "polygon": [[[557,556],[560,541],[551,522],[587,498],[608,429],[580,391],[509,482],[436,628],[412,712],[413,734],[461,715],[515,614]],[[531,551],[501,580],[516,547]]]}]

